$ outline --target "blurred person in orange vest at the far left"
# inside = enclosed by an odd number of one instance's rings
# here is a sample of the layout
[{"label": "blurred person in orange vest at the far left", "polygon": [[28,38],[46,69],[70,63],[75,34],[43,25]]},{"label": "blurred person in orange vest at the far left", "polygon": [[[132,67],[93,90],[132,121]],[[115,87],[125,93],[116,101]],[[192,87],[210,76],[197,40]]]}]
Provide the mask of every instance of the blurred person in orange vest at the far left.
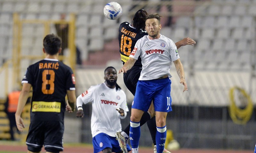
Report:
[{"label": "blurred person in orange vest at the far left", "polygon": [[20,134],[20,131],[18,130],[16,126],[16,121],[15,121],[15,112],[17,110],[18,106],[18,100],[20,96],[20,91],[13,91],[9,93],[7,96],[6,102],[4,104],[4,112],[7,114],[7,117],[10,121],[10,135],[11,135],[11,140],[14,141],[14,131],[13,128],[17,129],[17,132]]}]

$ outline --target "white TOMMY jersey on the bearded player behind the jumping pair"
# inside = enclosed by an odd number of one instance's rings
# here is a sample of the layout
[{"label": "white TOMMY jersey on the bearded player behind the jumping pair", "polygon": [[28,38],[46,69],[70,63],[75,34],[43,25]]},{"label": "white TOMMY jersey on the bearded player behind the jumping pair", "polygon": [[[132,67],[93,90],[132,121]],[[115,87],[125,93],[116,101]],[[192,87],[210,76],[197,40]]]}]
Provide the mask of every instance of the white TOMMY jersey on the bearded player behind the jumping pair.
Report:
[{"label": "white TOMMY jersey on the bearded player behind the jumping pair", "polygon": [[116,91],[116,88],[111,89],[105,83],[97,84],[79,95],[77,101],[79,104],[92,102],[92,137],[99,133],[114,137],[116,132],[122,131],[120,113],[116,108],[129,111],[123,90]]}]

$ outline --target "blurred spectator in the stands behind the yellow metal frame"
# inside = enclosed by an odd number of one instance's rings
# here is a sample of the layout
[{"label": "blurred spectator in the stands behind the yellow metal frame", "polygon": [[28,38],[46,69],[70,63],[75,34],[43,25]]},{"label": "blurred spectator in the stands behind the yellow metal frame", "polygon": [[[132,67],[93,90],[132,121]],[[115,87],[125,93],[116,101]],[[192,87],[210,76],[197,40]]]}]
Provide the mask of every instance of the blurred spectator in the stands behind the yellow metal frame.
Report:
[{"label": "blurred spectator in the stands behind the yellow metal frame", "polygon": [[[65,20],[66,14],[61,13],[60,20]],[[61,38],[62,44],[61,44],[61,52],[59,55],[64,55],[64,51],[68,49],[68,24],[55,24],[57,35]],[[63,60],[60,60],[61,62]],[[76,47],[76,64],[82,64],[81,58],[80,58],[80,49]]]}]

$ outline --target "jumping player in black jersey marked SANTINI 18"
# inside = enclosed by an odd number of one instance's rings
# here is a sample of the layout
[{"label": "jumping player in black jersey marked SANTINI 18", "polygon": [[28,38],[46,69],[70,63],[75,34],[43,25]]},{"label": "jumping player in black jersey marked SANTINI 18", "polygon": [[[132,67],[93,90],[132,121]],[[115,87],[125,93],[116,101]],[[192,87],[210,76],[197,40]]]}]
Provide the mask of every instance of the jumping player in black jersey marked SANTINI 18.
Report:
[{"label": "jumping player in black jersey marked SANTINI 18", "polygon": [[[129,55],[131,54],[137,40],[139,40],[145,35],[148,35],[148,33],[145,30],[145,21],[147,15],[147,11],[139,10],[134,14],[132,18],[132,24],[130,24],[129,22],[123,22],[119,26],[119,52],[121,54],[121,60],[123,64],[129,60]],[[195,43],[196,42],[193,39],[187,37],[183,40],[176,42],[175,45],[177,46],[178,49],[181,46],[194,45]],[[132,68],[128,70],[127,73],[124,73],[124,84],[126,85],[128,90],[132,92],[133,95],[135,95],[136,86],[140,77],[141,70],[142,64],[141,58],[139,57],[138,60],[132,66]],[[146,122],[148,124],[148,129],[150,131],[153,143],[155,145],[154,152],[156,153],[156,119],[153,105],[150,106],[148,112],[145,112],[143,114],[140,120],[140,126],[142,126]],[[124,129],[124,131],[116,133],[116,137],[124,153],[127,152],[127,150],[125,150],[125,146],[129,137],[129,130],[130,124]],[[170,152],[164,149],[163,153]]]}]

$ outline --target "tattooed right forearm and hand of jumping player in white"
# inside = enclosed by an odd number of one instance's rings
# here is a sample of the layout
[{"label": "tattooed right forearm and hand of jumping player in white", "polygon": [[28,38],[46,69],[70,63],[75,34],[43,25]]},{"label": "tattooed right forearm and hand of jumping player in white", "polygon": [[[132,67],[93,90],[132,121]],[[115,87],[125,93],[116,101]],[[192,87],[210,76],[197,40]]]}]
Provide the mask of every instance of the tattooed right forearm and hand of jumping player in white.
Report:
[{"label": "tattooed right forearm and hand of jumping player in white", "polygon": [[184,73],[183,65],[180,62],[180,59],[173,61],[173,63],[175,65],[176,72],[177,72],[178,76],[180,77],[180,84],[184,85],[183,92],[188,91],[187,83],[185,81],[185,73]]}]

